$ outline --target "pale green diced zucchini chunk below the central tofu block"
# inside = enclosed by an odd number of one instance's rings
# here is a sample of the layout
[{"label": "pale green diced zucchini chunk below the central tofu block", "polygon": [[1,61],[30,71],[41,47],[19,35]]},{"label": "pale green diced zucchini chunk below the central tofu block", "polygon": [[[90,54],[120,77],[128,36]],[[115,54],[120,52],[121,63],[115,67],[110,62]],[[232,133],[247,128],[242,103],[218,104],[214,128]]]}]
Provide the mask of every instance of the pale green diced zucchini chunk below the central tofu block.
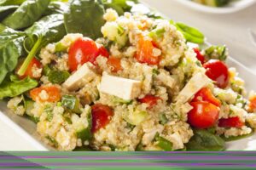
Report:
[{"label": "pale green diced zucchini chunk below the central tofu block", "polygon": [[143,122],[148,116],[147,111],[132,111],[129,115],[125,116],[124,119],[126,122],[129,122],[131,125],[139,125]]}]

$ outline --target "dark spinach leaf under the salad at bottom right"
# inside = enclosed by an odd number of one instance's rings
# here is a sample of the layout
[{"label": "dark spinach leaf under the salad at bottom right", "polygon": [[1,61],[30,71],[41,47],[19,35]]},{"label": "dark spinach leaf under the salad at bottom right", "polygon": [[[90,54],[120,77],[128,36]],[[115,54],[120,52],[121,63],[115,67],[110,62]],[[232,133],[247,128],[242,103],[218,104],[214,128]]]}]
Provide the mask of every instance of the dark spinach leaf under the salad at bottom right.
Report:
[{"label": "dark spinach leaf under the salad at bottom right", "polygon": [[219,136],[203,129],[195,129],[194,136],[186,144],[188,150],[224,150],[225,142]]}]

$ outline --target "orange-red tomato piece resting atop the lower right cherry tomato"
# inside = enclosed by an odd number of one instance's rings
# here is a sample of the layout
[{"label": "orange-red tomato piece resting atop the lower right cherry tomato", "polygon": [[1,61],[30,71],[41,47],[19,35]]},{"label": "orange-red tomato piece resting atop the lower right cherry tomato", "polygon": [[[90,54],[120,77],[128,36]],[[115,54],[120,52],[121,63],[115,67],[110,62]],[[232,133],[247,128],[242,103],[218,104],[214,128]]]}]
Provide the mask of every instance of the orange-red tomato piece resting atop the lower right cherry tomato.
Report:
[{"label": "orange-red tomato piece resting atop the lower right cherry tomato", "polygon": [[221,106],[219,99],[215,98],[210,88],[201,88],[201,90],[195,94],[195,97],[191,102],[196,101],[207,101],[212,105],[216,105],[217,107]]}]

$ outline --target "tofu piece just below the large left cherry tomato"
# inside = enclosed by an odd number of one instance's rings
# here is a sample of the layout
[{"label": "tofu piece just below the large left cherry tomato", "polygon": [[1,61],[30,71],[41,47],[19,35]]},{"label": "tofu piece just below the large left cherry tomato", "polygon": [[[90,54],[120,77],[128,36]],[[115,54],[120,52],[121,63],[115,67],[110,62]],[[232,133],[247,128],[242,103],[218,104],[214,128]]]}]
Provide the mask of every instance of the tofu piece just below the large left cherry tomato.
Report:
[{"label": "tofu piece just below the large left cherry tomato", "polygon": [[72,76],[67,78],[67,81],[63,83],[63,87],[70,91],[74,91],[82,88],[94,77],[96,77],[96,72],[90,68],[90,63],[85,63],[78,71],[75,71]]}]

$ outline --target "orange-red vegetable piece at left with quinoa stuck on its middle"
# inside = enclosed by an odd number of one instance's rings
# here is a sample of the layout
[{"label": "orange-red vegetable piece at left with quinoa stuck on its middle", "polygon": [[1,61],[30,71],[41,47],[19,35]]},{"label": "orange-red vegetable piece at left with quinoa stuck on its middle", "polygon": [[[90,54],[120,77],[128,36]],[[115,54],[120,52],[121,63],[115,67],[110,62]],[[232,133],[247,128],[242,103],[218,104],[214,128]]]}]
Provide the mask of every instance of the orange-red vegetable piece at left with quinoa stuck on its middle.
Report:
[{"label": "orange-red vegetable piece at left with quinoa stuck on its middle", "polygon": [[[42,91],[45,91],[49,98],[48,99],[42,99],[40,98],[39,94],[42,92]],[[40,88],[34,88],[30,91],[30,96],[32,97],[32,99],[34,101],[37,101],[39,100],[40,102],[57,102],[57,101],[60,101],[61,100],[61,92],[60,92],[60,89],[59,88],[56,88],[55,86],[49,86],[49,87],[46,87],[46,86],[42,86]]]}]

